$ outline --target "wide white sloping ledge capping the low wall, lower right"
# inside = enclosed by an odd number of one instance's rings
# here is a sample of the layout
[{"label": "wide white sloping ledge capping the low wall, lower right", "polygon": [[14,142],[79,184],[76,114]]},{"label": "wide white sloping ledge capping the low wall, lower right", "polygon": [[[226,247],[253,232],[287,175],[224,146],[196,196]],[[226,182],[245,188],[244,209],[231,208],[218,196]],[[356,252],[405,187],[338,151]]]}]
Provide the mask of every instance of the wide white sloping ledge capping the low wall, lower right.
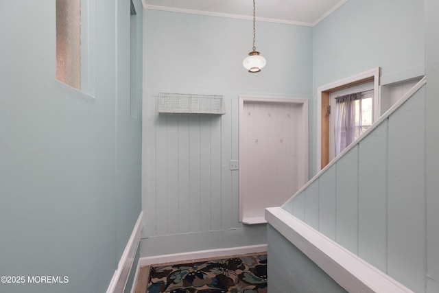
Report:
[{"label": "wide white sloping ledge capping the low wall, lower right", "polygon": [[265,219],[348,292],[413,293],[282,208],[265,209]]}]

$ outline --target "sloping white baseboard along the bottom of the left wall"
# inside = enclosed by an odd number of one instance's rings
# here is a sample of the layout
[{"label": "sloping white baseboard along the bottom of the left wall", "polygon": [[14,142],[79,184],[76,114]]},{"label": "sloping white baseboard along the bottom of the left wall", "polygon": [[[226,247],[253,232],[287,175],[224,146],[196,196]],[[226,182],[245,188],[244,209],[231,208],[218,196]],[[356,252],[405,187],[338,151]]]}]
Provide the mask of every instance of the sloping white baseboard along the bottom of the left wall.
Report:
[{"label": "sloping white baseboard along the bottom of the left wall", "polygon": [[139,218],[137,218],[137,222],[134,225],[128,244],[126,245],[125,250],[123,250],[122,257],[117,265],[117,270],[112,275],[107,293],[119,293],[125,290],[126,282],[130,276],[132,263],[134,262],[134,257],[136,256],[137,248],[139,247],[141,239],[143,229],[142,218],[143,211],[140,213]]}]

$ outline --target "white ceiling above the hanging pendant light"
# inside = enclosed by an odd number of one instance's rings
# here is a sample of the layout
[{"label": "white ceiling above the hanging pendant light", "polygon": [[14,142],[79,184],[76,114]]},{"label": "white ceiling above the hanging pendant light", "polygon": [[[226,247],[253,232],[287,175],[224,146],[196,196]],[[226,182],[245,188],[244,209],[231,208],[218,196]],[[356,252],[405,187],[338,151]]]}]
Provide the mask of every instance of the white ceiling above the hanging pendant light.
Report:
[{"label": "white ceiling above the hanging pendant light", "polygon": [[[143,7],[252,19],[252,0],[142,0]],[[256,0],[259,21],[313,26],[348,0]]]}]

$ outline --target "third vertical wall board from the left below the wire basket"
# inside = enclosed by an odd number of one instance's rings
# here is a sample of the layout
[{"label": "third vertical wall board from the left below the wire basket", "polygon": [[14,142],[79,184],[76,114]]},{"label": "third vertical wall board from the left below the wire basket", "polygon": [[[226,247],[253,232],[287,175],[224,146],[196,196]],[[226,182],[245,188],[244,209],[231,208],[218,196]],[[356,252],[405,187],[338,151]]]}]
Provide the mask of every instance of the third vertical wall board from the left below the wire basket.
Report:
[{"label": "third vertical wall board from the left below the wire basket", "polygon": [[191,231],[189,188],[189,116],[178,116],[178,231]]}]

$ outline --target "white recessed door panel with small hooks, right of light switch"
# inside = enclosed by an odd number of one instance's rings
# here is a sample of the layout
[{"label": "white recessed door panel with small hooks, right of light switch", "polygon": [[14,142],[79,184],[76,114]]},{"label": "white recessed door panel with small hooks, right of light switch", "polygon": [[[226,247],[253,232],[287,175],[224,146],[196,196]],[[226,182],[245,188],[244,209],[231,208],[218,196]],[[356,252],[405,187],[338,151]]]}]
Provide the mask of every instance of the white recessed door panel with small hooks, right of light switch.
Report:
[{"label": "white recessed door panel with small hooks, right of light switch", "polygon": [[240,97],[239,106],[239,218],[259,224],[307,182],[307,100]]}]

